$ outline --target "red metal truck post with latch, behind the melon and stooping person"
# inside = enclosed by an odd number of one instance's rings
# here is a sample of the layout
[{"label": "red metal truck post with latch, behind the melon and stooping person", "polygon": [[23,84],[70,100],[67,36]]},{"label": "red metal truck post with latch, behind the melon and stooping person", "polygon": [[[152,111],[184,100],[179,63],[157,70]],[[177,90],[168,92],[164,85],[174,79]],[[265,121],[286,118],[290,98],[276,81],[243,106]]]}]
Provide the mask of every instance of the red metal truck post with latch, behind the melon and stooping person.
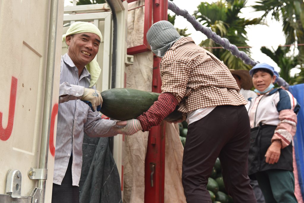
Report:
[{"label": "red metal truck post with latch, behind the melon and stooping person", "polygon": [[[153,0],[154,22],[168,19],[168,0]],[[161,92],[161,59],[154,56],[152,91]],[[154,126],[149,132],[145,160],[145,203],[164,202],[165,127]]]}]

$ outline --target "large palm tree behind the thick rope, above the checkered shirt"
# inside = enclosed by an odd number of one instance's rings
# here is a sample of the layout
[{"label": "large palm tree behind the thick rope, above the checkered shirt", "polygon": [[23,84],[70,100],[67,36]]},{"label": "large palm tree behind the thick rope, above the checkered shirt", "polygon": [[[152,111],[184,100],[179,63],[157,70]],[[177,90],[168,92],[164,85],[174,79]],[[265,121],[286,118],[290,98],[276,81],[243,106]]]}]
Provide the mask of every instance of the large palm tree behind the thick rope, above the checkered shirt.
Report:
[{"label": "large palm tree behind the thick rope, above the checkered shirt", "polygon": [[[248,55],[250,49],[247,45],[246,26],[261,24],[260,18],[245,19],[239,17],[241,9],[245,7],[247,0],[227,0],[214,3],[202,2],[194,12],[194,16],[203,26],[208,26],[213,32],[227,38],[230,43],[238,46]],[[206,47],[216,57],[222,60],[229,68],[250,70],[251,66],[244,64],[242,60],[233,56],[230,51],[224,49],[211,49],[208,47],[218,46],[211,39],[203,40],[200,46]]]}]

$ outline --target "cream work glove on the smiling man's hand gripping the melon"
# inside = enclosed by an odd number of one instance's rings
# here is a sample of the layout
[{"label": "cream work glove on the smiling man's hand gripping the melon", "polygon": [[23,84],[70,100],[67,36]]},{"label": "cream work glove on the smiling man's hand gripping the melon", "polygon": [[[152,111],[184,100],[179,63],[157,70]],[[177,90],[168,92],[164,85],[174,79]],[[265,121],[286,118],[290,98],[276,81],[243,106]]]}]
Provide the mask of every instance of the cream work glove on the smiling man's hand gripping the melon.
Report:
[{"label": "cream work glove on the smiling man's hand gripping the melon", "polygon": [[102,105],[102,97],[100,95],[100,91],[94,90],[91,88],[85,88],[85,92],[83,93],[81,100],[87,103],[93,112],[100,111]]}]

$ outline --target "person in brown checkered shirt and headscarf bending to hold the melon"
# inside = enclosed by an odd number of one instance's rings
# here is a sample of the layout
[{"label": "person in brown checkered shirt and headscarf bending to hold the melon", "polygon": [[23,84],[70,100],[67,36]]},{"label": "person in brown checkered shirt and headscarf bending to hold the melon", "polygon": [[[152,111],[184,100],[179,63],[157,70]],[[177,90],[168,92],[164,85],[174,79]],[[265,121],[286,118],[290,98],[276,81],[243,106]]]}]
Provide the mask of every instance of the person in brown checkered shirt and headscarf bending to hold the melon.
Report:
[{"label": "person in brown checkered shirt and headscarf bending to hold the melon", "polygon": [[211,202],[206,185],[219,157],[225,188],[233,201],[256,203],[247,175],[247,101],[240,95],[230,70],[191,37],[181,37],[168,21],[154,23],[147,32],[147,40],[152,52],[162,58],[162,93],[137,119],[117,122],[126,125],[120,133],[148,131],[178,105],[188,123],[182,163],[187,202]]}]

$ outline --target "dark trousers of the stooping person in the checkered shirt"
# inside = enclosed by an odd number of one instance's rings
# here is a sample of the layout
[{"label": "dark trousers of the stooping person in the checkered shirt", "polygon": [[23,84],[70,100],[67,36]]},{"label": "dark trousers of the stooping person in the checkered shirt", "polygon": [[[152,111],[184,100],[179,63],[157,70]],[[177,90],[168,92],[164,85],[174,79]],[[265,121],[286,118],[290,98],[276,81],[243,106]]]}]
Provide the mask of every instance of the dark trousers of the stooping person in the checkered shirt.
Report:
[{"label": "dark trousers of the stooping person in the checkered shirt", "polygon": [[188,203],[211,202],[206,185],[217,157],[226,191],[233,202],[257,202],[247,175],[249,139],[249,117],[244,105],[217,106],[188,126],[182,165],[182,184]]}]

